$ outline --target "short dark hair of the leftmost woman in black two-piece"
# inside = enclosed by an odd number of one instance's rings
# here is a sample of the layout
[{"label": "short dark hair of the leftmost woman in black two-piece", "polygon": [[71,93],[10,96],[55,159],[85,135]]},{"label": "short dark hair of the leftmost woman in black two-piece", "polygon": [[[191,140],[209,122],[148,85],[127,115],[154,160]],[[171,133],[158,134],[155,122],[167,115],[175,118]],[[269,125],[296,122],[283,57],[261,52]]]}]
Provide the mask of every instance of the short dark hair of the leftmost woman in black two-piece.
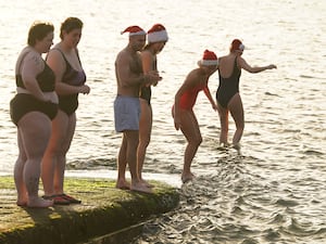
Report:
[{"label": "short dark hair of the leftmost woman in black two-piece", "polygon": [[29,28],[27,43],[32,47],[37,40],[42,40],[49,33],[53,33],[54,27],[51,23],[35,22]]}]

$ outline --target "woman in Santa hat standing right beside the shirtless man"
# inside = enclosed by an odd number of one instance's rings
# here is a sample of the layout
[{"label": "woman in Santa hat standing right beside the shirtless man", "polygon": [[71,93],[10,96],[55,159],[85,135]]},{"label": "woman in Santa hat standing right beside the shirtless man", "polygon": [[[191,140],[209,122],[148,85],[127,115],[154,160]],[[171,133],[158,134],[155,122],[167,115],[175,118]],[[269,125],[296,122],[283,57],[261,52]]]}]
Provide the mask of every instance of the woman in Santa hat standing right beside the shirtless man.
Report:
[{"label": "woman in Santa hat standing right beside the shirtless man", "polygon": [[[148,44],[141,51],[142,72],[158,72],[156,55],[163,50],[168,40],[167,31],[161,24],[153,25],[147,33]],[[156,86],[156,84],[153,84]],[[151,106],[151,86],[140,88],[140,120],[139,120],[139,145],[137,150],[137,172],[141,182],[152,187],[142,178],[142,166],[147,146],[150,143],[152,131],[152,106]]]}]

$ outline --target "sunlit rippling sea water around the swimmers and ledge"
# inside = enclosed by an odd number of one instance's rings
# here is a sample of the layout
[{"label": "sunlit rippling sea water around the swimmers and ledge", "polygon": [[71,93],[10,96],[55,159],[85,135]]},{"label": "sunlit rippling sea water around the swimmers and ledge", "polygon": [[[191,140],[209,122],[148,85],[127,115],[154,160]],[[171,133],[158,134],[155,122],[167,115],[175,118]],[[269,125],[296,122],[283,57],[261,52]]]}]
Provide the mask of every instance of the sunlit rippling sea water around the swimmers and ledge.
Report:
[{"label": "sunlit rippling sea water around the swimmers and ledge", "polygon": [[[195,107],[204,139],[193,160],[198,178],[180,185],[180,206],[145,227],[136,243],[326,243],[326,3],[298,1],[41,1],[0,2],[0,172],[12,174],[16,130],[9,118],[14,64],[35,20],[84,23],[79,43],[91,87],[80,95],[68,169],[115,170],[121,143],[113,124],[114,60],[128,25],[162,23],[170,41],[159,55],[163,81],[153,89],[154,124],[145,170],[179,177],[185,139],[171,105],[204,49],[227,53],[234,38],[253,65],[276,70],[242,73],[246,128],[242,155],[218,151],[220,121],[203,94]],[[210,80],[212,93],[217,75]],[[234,124],[230,123],[230,132]]]}]

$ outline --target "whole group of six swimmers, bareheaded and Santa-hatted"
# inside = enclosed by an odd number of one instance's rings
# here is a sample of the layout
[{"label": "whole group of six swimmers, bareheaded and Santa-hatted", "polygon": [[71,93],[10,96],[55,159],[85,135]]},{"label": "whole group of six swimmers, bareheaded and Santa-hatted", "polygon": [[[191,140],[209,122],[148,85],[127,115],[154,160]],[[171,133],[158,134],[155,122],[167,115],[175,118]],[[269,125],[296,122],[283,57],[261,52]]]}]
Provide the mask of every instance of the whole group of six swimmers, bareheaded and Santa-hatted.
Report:
[{"label": "whole group of six swimmers, bareheaded and Santa-hatted", "polygon": [[[83,22],[66,18],[60,29],[61,41],[53,48],[54,27],[50,23],[35,23],[28,33],[27,47],[18,55],[15,78],[16,94],[10,102],[12,121],[17,127],[18,158],[14,167],[17,205],[49,207],[53,204],[80,203],[64,192],[66,153],[76,127],[78,94],[88,94],[86,74],[78,55]],[[129,26],[127,46],[115,60],[117,94],[114,100],[115,130],[122,132],[117,156],[116,188],[151,193],[152,184],[142,177],[146,151],[152,129],[151,87],[162,77],[158,70],[156,55],[168,40],[165,27],[153,25],[148,31]],[[239,94],[239,78],[243,68],[250,73],[276,68],[275,65],[252,67],[241,56],[244,46],[231,42],[229,54],[217,57],[205,50],[198,67],[186,77],[175,94],[172,116],[176,130],[181,130],[188,144],[184,154],[183,182],[191,180],[191,162],[202,142],[193,105],[203,90],[221,120],[220,143],[229,146],[228,114],[236,132],[233,146],[240,149],[243,132],[243,107]],[[42,54],[47,53],[46,60]],[[218,70],[220,86],[214,101],[208,82]],[[125,177],[129,168],[131,181]],[[45,195],[38,195],[39,180]]]}]

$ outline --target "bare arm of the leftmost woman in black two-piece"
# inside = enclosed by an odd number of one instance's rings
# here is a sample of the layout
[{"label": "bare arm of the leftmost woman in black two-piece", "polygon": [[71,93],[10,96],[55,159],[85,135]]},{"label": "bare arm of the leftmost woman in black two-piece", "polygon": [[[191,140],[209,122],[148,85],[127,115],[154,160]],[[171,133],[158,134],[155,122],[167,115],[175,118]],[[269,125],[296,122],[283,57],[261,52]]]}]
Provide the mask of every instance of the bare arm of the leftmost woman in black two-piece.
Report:
[{"label": "bare arm of the leftmost woman in black two-piece", "polygon": [[25,61],[22,64],[22,79],[26,90],[28,90],[35,98],[40,101],[46,102],[47,99],[43,95],[43,92],[38,86],[36,77],[45,68],[45,62],[41,56],[38,56],[35,53],[27,54]]}]

